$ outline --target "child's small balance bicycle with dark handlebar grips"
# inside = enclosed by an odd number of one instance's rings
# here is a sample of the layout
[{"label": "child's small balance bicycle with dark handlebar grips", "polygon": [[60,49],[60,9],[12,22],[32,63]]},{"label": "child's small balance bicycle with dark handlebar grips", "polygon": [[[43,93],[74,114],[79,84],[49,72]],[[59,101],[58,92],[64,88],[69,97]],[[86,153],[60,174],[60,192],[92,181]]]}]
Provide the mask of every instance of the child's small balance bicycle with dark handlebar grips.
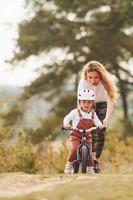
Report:
[{"label": "child's small balance bicycle with dark handlebar grips", "polygon": [[92,147],[86,142],[86,137],[88,134],[91,134],[93,131],[98,130],[98,127],[92,127],[90,129],[79,129],[79,128],[64,128],[62,130],[72,131],[76,130],[82,134],[81,144],[77,148],[76,160],[73,161],[73,173],[78,173],[79,166],[81,163],[81,172],[87,172],[88,160],[91,157]]}]

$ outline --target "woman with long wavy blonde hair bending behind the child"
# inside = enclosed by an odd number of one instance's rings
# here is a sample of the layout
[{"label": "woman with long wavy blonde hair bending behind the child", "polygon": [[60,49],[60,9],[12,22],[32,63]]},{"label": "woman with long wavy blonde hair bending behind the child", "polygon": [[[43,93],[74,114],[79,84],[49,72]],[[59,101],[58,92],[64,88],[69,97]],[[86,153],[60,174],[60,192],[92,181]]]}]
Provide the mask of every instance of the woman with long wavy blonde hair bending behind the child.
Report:
[{"label": "woman with long wavy blonde hair bending behind the child", "polygon": [[[113,111],[114,102],[118,96],[118,89],[114,82],[110,80],[105,67],[97,61],[88,62],[82,73],[82,79],[78,85],[78,91],[81,89],[91,89],[95,98],[95,111],[105,127],[107,127],[109,117]],[[100,134],[93,136],[93,152],[95,152],[94,171],[100,172],[99,158],[104,146],[105,133],[100,130]]]}]

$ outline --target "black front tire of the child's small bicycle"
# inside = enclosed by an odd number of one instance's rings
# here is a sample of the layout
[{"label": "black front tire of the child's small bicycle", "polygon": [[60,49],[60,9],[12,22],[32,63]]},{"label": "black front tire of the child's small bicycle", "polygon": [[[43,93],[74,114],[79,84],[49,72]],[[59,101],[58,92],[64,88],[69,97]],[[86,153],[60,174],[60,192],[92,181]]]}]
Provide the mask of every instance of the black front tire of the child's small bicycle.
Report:
[{"label": "black front tire of the child's small bicycle", "polygon": [[82,146],[82,173],[86,173],[88,165],[88,148],[87,146]]}]

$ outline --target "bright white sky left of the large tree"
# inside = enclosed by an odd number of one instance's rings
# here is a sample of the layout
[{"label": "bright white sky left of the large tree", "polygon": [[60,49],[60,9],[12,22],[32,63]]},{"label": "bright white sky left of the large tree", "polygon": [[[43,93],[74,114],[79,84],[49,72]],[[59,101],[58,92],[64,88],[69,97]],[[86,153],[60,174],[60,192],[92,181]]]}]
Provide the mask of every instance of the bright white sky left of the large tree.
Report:
[{"label": "bright white sky left of the large tree", "polygon": [[0,4],[0,84],[27,85],[35,73],[32,65],[11,70],[5,60],[12,58],[17,38],[17,24],[24,19],[23,0],[4,0]]}]

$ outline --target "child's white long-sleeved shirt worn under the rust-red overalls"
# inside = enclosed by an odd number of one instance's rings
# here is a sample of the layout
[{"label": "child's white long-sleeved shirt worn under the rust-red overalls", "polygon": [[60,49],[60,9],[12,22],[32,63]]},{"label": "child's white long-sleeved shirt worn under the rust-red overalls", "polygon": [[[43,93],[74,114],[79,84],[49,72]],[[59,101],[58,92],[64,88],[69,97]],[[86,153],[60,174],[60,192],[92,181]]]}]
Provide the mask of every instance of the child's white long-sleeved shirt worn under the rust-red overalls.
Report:
[{"label": "child's white long-sleeved shirt worn under the rust-red overalls", "polygon": [[[80,112],[81,112],[82,118],[92,119],[92,111],[87,113],[87,112],[84,112],[80,109]],[[69,124],[70,122],[72,122],[72,127],[76,128],[78,123],[79,123],[79,120],[80,120],[80,117],[79,117],[78,110],[74,109],[74,110],[70,111],[65,116],[65,118],[63,120],[63,125],[65,126],[65,125]],[[95,126],[101,126],[102,125],[101,121],[99,120],[99,118],[98,118],[98,116],[95,112],[94,112],[93,123],[94,123]]]}]

